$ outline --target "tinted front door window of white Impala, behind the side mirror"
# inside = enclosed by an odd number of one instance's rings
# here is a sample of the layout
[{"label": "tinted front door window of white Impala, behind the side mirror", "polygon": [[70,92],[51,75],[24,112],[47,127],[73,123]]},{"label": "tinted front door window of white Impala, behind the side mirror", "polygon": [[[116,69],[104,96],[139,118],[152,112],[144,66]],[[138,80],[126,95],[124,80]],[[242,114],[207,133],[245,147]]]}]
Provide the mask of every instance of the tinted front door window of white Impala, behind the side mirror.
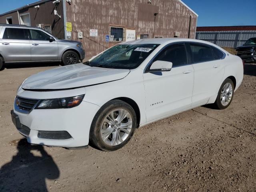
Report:
[{"label": "tinted front door window of white Impala, behind the side mirror", "polygon": [[172,62],[172,67],[188,64],[186,48],[184,44],[171,45],[162,50],[154,61]]}]

